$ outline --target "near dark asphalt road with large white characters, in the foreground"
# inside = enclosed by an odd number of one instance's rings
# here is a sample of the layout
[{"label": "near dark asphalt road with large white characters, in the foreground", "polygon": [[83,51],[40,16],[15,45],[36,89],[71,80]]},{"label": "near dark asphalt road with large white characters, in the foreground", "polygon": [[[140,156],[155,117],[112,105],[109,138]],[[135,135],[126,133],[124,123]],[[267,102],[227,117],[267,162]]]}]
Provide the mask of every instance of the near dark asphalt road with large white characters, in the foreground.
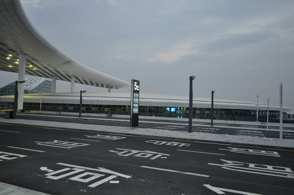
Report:
[{"label": "near dark asphalt road with large white characters, in the foreground", "polygon": [[294,190],[294,151],[0,125],[0,182],[52,195]]}]

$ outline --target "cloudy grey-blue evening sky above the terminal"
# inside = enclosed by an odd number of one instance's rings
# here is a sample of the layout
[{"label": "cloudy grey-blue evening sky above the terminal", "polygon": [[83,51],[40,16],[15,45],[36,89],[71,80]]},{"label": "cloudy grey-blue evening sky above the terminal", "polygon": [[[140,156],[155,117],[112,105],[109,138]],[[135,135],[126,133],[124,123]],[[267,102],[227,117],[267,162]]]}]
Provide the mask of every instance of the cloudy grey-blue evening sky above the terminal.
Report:
[{"label": "cloudy grey-blue evening sky above the terminal", "polygon": [[[294,1],[20,0],[32,24],[85,66],[141,93],[193,95],[294,110]],[[11,81],[10,81],[10,80]],[[9,80],[9,82],[8,82]],[[0,83],[17,74],[0,71]],[[70,92],[57,81],[56,92]],[[75,91],[107,88],[75,84]],[[131,88],[111,92],[131,92]]]}]

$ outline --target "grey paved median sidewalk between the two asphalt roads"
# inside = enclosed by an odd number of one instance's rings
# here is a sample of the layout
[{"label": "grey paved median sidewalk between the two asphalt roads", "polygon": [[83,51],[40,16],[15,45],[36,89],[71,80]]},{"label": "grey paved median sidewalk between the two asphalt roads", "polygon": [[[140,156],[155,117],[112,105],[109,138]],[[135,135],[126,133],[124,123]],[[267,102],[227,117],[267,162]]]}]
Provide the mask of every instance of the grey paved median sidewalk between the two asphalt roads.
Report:
[{"label": "grey paved median sidewalk between the two asphalt roads", "polygon": [[[73,117],[73,118],[76,118],[77,120],[86,119],[86,118],[79,119],[77,117]],[[109,119],[109,120],[112,120],[112,119]],[[118,120],[118,119],[114,119],[114,120],[124,121],[124,120]],[[149,121],[149,123],[151,122],[152,121]],[[163,139],[172,139],[172,140],[185,140],[185,141],[194,141],[194,142],[208,142],[208,143],[219,143],[219,144],[238,145],[238,146],[253,146],[253,147],[272,148],[272,149],[294,150],[294,140],[292,139],[280,140],[279,138],[260,138],[260,137],[226,135],[226,134],[209,134],[209,133],[198,133],[198,132],[188,133],[188,131],[171,131],[171,130],[162,130],[162,129],[143,129],[143,128],[131,129],[130,127],[89,125],[89,124],[79,124],[79,123],[63,123],[63,122],[36,121],[36,120],[24,120],[24,119],[0,118],[0,123],[54,128],[54,129],[89,131],[89,132],[97,132],[97,133],[119,134],[119,135],[132,135],[132,136],[141,136],[141,137],[149,137],[149,138],[163,138]],[[158,122],[156,123],[158,124]],[[166,122],[166,123],[160,122],[160,124],[183,125],[183,124],[175,123],[175,121]],[[193,124],[193,126],[209,126],[209,125]],[[218,126],[214,126],[214,128],[217,128],[217,127]],[[236,129],[236,127],[234,128]],[[253,128],[239,127],[238,129],[253,129]],[[254,130],[257,130],[257,129],[254,129]]]}]

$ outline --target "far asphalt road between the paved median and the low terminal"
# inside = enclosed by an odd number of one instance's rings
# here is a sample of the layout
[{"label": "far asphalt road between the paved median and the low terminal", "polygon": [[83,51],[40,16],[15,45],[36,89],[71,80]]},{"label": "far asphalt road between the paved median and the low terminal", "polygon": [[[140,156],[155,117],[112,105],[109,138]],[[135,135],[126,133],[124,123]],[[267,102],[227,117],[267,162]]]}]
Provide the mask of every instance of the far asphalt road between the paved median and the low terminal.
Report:
[{"label": "far asphalt road between the paved median and the low terminal", "polygon": [[[72,116],[71,116],[72,117]],[[125,126],[129,127],[129,122],[116,122],[116,121],[103,121],[103,120],[84,120],[77,119],[77,118],[60,118],[50,115],[34,115],[34,114],[22,114],[17,115],[19,119],[30,119],[30,120],[40,120],[40,121],[55,121],[55,122],[68,122],[68,123],[80,123],[80,124],[93,124],[93,125],[107,125],[107,126]],[[100,117],[101,119],[113,119],[108,117]],[[122,119],[126,120],[126,119]],[[177,121],[178,125],[168,125],[168,124],[160,124],[162,122],[166,123],[175,123],[175,121],[154,121],[155,124],[144,123],[144,121],[150,120],[141,120],[143,122],[139,123],[140,128],[149,128],[149,129],[166,129],[166,130],[174,130],[174,131],[188,131],[188,126],[183,125],[187,122]],[[158,124],[156,124],[158,122]],[[200,123],[200,122],[193,122],[193,124],[197,125],[210,125],[208,123]],[[266,126],[262,125],[236,125],[236,124],[219,124],[214,123],[215,126],[222,126],[220,127],[192,127],[193,132],[202,132],[202,133],[211,133],[211,134],[228,134],[228,135],[246,135],[252,137],[264,137],[264,138],[279,138],[279,127],[270,126],[269,130],[265,129]],[[230,128],[228,128],[230,127]],[[234,129],[234,127],[242,127],[245,129]],[[246,128],[256,128],[257,130],[250,130]],[[283,130],[292,130],[294,132],[293,127],[283,127]],[[293,132],[283,132],[283,139],[294,139]]]}]

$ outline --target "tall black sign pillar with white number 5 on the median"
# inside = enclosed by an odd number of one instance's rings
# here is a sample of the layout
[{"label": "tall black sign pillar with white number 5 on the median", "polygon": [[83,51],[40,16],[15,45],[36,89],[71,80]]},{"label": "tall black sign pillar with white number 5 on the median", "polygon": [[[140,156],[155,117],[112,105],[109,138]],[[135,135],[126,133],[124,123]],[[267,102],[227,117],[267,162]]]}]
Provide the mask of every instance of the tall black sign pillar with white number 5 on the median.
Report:
[{"label": "tall black sign pillar with white number 5 on the median", "polygon": [[138,121],[139,121],[139,87],[140,87],[140,81],[132,79],[130,127],[137,127],[138,126]]}]

